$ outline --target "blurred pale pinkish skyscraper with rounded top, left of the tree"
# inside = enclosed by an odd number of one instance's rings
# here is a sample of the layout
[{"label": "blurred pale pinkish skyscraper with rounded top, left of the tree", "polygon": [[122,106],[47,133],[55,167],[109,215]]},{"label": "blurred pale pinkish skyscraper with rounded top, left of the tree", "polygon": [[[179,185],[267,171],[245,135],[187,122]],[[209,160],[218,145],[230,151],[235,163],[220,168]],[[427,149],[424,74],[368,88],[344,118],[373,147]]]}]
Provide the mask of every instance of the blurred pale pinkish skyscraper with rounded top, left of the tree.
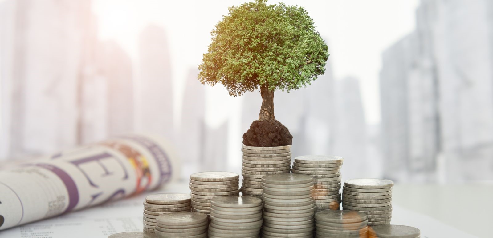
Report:
[{"label": "blurred pale pinkish skyscraper with rounded top, left of the tree", "polygon": [[161,27],[147,26],[139,39],[137,130],[172,138],[173,80],[168,40]]}]

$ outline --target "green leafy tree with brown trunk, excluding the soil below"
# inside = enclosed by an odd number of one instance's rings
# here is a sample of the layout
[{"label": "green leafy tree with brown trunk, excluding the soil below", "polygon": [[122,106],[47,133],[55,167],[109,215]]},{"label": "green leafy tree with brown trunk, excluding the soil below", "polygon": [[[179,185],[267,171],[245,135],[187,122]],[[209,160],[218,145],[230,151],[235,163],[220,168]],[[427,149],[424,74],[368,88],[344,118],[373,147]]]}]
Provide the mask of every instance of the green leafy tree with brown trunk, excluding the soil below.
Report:
[{"label": "green leafy tree with brown trunk, excluding the soil below", "polygon": [[306,87],[325,71],[327,45],[303,7],[255,0],[229,7],[211,31],[199,80],[231,96],[260,87],[259,120],[275,119],[274,91]]}]

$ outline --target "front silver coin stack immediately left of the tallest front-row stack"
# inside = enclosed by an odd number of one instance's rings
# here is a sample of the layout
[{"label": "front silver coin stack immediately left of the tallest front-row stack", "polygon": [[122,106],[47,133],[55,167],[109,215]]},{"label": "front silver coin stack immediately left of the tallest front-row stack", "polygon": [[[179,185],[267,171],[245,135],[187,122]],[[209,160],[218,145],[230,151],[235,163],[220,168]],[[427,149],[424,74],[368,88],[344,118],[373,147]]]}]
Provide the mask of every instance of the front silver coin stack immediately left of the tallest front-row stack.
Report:
[{"label": "front silver coin stack immediately left of the tallest front-row stack", "polygon": [[257,238],[262,227],[262,200],[246,196],[211,199],[209,238]]}]

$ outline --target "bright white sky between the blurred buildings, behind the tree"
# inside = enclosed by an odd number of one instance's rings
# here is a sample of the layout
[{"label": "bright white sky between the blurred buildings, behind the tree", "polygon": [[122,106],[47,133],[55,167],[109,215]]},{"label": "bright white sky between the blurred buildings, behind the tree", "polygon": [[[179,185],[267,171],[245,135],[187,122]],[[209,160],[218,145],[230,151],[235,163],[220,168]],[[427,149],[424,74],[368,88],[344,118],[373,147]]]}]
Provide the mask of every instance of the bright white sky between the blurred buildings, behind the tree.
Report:
[{"label": "bright white sky between the blurred buildings, behind the tree", "polygon": [[[114,39],[135,59],[141,30],[154,23],[169,36],[174,101],[181,103],[188,70],[197,67],[211,41],[210,31],[231,5],[246,0],[95,0],[102,39]],[[336,79],[355,76],[361,82],[363,106],[368,123],[380,122],[378,77],[381,54],[388,46],[415,28],[419,0],[283,0],[301,5],[314,19],[317,30],[328,39]],[[270,0],[268,3],[279,1]],[[220,87],[207,92],[206,119],[218,124],[230,117],[238,98],[230,98]],[[224,104],[224,107],[210,105]],[[178,111],[175,112],[179,114]]]}]

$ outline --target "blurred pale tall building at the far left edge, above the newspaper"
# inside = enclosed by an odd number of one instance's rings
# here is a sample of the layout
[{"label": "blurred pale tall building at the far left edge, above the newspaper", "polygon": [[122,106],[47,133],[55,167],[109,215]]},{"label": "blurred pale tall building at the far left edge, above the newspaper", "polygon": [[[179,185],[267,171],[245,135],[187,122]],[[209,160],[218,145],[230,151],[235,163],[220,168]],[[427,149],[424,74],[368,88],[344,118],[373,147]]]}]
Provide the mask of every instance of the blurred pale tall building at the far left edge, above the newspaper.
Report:
[{"label": "blurred pale tall building at the far left edge, above the newspaper", "polygon": [[77,142],[77,81],[91,1],[3,4],[1,123],[7,135],[1,144],[8,140],[5,151],[10,156],[72,146]]}]

